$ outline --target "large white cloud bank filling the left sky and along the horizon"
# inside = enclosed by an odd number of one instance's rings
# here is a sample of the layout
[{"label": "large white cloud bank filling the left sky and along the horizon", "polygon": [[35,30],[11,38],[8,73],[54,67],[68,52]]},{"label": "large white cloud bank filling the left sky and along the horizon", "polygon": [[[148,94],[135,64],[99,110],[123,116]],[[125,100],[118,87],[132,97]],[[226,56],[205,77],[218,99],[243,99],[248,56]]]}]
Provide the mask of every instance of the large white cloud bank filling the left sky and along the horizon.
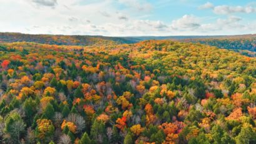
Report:
[{"label": "large white cloud bank filling the left sky and along the horizon", "polygon": [[[0,22],[0,31],[104,36],[256,33],[255,21],[248,23],[244,20],[244,17],[242,19],[230,16],[230,14],[229,17],[222,17],[222,19],[218,19],[220,16],[197,17],[190,14],[174,20],[171,17],[169,19],[165,18],[165,21],[159,21],[157,18],[150,19],[151,14],[154,15],[152,13],[154,11],[144,11],[148,9],[145,0],[130,0],[139,3],[139,6],[127,3],[124,9],[117,9],[115,4],[130,1],[105,0],[79,4],[81,0],[59,0],[54,5],[54,9],[51,8],[52,6],[35,7],[34,4],[31,5],[31,1],[0,0],[0,12],[4,13],[0,15],[0,19],[4,19]],[[119,6],[123,5],[124,3]],[[144,8],[140,9],[140,7]],[[247,7],[243,11],[250,12],[252,10]]]}]

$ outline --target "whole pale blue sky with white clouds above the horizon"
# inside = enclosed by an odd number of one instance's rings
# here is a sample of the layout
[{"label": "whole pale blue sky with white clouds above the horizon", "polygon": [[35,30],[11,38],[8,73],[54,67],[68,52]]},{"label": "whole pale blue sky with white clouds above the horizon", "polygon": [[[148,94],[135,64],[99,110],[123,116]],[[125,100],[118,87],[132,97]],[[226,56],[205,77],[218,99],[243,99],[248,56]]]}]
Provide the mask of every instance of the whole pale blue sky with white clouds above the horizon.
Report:
[{"label": "whole pale blue sky with white clouds above the horizon", "polygon": [[103,36],[256,33],[254,0],[0,0],[0,32]]}]

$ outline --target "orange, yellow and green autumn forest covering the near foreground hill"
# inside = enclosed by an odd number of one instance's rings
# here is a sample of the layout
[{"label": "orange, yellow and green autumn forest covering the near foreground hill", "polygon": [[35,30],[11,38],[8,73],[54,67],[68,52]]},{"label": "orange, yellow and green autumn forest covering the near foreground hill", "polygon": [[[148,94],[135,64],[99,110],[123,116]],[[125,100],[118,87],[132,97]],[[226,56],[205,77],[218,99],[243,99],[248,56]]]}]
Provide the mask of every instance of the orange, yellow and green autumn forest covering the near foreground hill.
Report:
[{"label": "orange, yellow and green autumn forest covering the near foreground hill", "polygon": [[256,143],[256,58],[202,44],[0,46],[1,143]]}]

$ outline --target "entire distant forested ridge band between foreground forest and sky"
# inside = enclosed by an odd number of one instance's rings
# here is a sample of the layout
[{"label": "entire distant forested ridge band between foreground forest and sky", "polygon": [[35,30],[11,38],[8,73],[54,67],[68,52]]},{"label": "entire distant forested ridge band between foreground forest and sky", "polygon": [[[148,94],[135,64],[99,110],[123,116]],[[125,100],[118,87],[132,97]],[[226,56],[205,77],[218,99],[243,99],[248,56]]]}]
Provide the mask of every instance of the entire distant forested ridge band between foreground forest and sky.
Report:
[{"label": "entire distant forested ridge band between foreground forest and sky", "polygon": [[242,55],[256,57],[256,35],[238,36],[141,36],[141,37],[106,37],[106,36],[64,36],[46,34],[21,34],[0,32],[0,42],[36,42],[58,46],[114,46],[117,44],[135,44],[145,40],[167,40],[193,42],[229,49]]}]

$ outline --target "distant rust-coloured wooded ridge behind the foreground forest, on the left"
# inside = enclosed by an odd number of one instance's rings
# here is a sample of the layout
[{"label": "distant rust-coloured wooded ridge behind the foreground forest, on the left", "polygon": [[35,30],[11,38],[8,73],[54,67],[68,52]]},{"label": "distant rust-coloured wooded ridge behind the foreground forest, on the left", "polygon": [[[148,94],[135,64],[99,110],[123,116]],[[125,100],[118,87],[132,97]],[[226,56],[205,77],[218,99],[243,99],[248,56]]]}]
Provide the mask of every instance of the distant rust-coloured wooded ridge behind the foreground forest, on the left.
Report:
[{"label": "distant rust-coloured wooded ridge behind the foreground forest, on the left", "polygon": [[43,34],[21,34],[0,32],[0,42],[36,42],[39,44],[55,44],[69,46],[113,45],[132,43],[131,39],[104,36],[64,36]]}]

